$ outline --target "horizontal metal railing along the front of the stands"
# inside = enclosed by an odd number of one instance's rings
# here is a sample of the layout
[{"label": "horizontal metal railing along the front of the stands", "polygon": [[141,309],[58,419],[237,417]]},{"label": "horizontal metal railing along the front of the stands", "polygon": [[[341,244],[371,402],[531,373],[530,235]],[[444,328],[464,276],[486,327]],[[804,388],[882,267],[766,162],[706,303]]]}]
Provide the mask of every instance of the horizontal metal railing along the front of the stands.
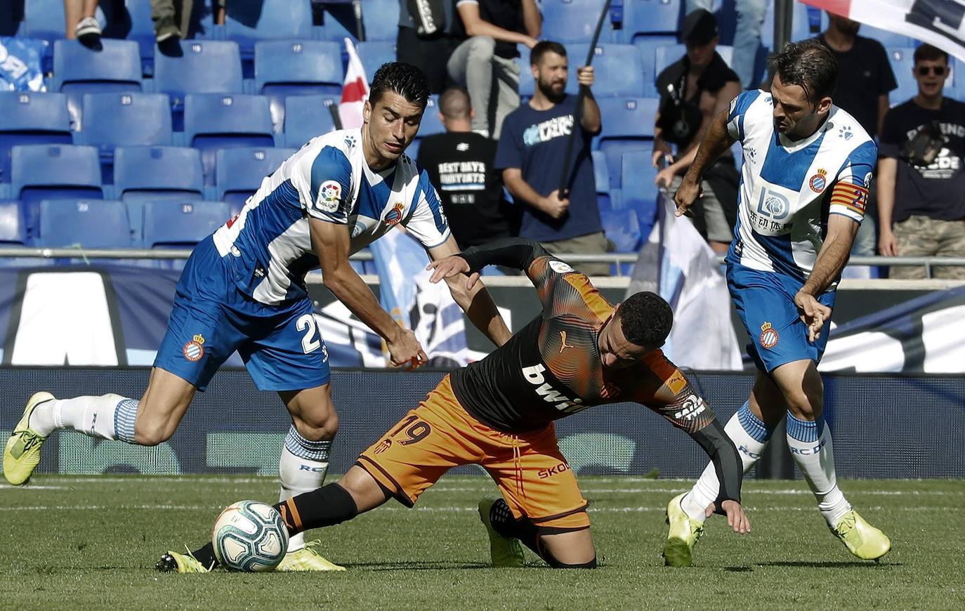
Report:
[{"label": "horizontal metal railing along the front of the stands", "polygon": [[[23,259],[148,259],[170,260],[187,259],[191,255],[189,248],[152,249],[152,248],[32,248],[29,246],[0,247],[0,258]],[[618,264],[617,275],[621,276],[620,264],[637,263],[636,253],[599,253],[599,254],[566,254],[566,261],[575,264],[606,263]],[[371,252],[355,253],[349,257],[352,261],[372,261]],[[724,258],[720,258],[724,262]],[[848,265],[924,265],[927,277],[931,277],[935,266],[963,266],[965,257],[851,257]]]}]

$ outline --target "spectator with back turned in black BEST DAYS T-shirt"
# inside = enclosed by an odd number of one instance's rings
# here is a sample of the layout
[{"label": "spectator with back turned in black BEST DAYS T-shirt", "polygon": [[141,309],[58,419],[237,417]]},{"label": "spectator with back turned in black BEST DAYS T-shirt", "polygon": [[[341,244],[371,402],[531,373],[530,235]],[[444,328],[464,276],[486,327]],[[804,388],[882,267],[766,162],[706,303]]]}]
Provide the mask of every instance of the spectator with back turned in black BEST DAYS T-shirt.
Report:
[{"label": "spectator with back turned in black BEST DAYS T-shirt", "polygon": [[442,208],[459,248],[512,234],[513,208],[503,197],[503,177],[493,167],[496,142],[473,133],[473,108],[462,88],[439,98],[446,133],[423,138],[419,165],[439,189]]}]

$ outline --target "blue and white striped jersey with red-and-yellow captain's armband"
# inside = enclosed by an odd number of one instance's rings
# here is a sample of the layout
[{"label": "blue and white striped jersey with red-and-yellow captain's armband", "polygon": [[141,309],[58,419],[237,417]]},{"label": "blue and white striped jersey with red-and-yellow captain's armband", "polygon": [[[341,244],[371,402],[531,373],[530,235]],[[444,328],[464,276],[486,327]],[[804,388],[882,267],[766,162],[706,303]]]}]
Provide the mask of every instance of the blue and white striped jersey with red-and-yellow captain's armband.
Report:
[{"label": "blue and white striped jersey with red-and-yellow captain's armband", "polygon": [[728,131],[744,149],[731,263],[790,275],[811,273],[828,214],[861,223],[877,147],[848,113],[832,106],[813,135],[788,140],[774,128],[770,94],[731,101]]}]

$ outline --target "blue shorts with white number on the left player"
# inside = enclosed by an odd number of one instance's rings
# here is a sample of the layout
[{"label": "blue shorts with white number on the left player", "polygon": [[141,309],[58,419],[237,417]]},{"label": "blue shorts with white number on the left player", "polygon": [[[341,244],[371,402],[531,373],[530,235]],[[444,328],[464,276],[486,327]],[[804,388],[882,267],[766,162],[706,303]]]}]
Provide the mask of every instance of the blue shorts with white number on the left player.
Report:
[{"label": "blue shorts with white number on the left player", "polygon": [[238,291],[210,236],[184,265],[154,367],[205,390],[237,350],[260,390],[303,390],[328,382],[328,350],[312,303],[265,305]]}]

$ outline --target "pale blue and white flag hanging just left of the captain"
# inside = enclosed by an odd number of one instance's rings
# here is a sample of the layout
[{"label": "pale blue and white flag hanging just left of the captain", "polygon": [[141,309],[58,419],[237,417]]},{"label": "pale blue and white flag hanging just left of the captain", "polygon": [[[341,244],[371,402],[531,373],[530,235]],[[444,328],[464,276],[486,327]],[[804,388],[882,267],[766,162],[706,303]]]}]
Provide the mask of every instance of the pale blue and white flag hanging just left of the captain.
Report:
[{"label": "pale blue and white flag hanging just left of the captain", "polygon": [[626,294],[656,292],[674,310],[664,353],[679,367],[743,369],[731,323],[731,295],[717,256],[686,217],[658,195],[657,222],[640,251]]}]

